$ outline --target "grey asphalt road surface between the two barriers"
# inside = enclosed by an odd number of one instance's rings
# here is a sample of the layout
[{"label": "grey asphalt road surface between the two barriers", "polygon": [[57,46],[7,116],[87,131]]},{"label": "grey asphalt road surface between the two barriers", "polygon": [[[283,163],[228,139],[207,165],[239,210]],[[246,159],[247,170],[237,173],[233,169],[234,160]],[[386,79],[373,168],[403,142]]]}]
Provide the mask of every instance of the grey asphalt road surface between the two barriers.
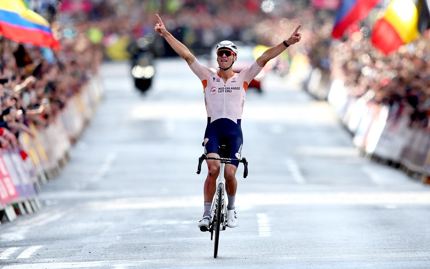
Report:
[{"label": "grey asphalt road surface between the two barriers", "polygon": [[0,225],[0,268],[430,268],[430,188],[360,156],[331,107],[268,74],[242,120],[239,225],[218,259],[197,228],[206,114],[181,59],[152,89],[127,64],[101,69],[105,98],[42,208]]}]

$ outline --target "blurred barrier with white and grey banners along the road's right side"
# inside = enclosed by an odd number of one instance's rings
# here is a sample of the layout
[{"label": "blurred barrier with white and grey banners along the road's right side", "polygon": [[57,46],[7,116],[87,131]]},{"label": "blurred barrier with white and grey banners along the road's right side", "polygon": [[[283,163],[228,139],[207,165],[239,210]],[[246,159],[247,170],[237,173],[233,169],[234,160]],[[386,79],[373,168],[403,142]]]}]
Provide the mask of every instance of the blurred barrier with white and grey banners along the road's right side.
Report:
[{"label": "blurred barrier with white and grey banners along the road's right side", "polygon": [[310,68],[303,88],[331,104],[362,154],[430,184],[430,131],[414,127],[410,116],[395,105],[374,102],[371,94],[352,96],[342,81],[327,83],[321,74]]}]

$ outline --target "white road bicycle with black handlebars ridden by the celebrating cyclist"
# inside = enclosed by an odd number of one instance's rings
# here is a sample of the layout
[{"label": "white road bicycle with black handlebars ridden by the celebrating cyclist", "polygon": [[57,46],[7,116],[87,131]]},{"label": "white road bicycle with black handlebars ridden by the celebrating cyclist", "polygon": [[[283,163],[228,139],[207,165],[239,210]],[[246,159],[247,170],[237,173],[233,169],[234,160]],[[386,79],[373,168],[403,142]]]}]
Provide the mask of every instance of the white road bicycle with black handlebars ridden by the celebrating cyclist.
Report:
[{"label": "white road bicycle with black handlebars ridden by the celebrating cyclist", "polygon": [[213,257],[218,257],[218,242],[220,231],[226,230],[227,227],[227,204],[226,204],[226,179],[224,178],[224,167],[227,163],[230,162],[239,162],[243,163],[244,171],[243,178],[246,178],[248,175],[248,162],[243,157],[242,159],[230,159],[224,158],[223,152],[226,146],[221,146],[221,157],[207,157],[205,154],[201,155],[198,158],[198,168],[197,173],[200,174],[201,164],[203,160],[218,160],[220,161],[220,174],[217,178],[216,185],[217,190],[212,200],[212,206],[210,209],[210,220],[209,220],[209,229],[200,228],[202,232],[210,232],[210,239],[214,240],[214,252]]}]

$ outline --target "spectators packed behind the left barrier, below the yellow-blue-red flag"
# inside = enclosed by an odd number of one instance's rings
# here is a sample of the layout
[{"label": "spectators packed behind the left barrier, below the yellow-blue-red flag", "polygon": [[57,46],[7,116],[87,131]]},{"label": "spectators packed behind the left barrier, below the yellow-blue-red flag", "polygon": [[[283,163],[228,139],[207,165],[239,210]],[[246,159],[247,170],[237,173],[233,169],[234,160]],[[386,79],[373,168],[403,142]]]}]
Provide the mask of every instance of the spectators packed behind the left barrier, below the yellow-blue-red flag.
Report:
[{"label": "spectators packed behind the left barrier, below the yellow-blue-red flag", "polygon": [[[20,150],[19,135],[33,136],[29,124],[45,128],[96,75],[103,52],[91,42],[91,23],[61,38],[61,50],[17,43],[0,37],[0,146]],[[21,151],[22,152],[22,151]]]}]

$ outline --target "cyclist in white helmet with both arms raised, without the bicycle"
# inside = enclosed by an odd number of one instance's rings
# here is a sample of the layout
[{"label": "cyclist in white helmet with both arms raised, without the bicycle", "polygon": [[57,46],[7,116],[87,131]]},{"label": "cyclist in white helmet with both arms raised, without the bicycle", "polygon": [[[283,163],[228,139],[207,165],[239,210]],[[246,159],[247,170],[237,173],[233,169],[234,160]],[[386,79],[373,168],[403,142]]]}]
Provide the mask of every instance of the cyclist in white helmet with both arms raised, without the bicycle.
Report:
[{"label": "cyclist in white helmet with both arms raised, without the bicycle", "polygon": [[[221,41],[216,46],[219,71],[213,72],[198,62],[190,50],[170,34],[163,24],[160,16],[156,14],[158,23],[154,30],[165,38],[173,50],[181,56],[191,70],[198,76],[204,88],[204,101],[207,111],[207,126],[204,134],[204,152],[208,157],[220,157],[220,145],[227,146],[226,158],[240,159],[242,149],[242,129],[240,127],[242,110],[245,102],[245,93],[251,80],[263,69],[267,62],[287,47],[300,41],[298,25],[294,33],[280,44],[267,49],[251,67],[239,73],[233,73],[232,65],[237,60],[238,50],[233,42]],[[210,208],[212,198],[216,191],[216,179],[219,174],[220,161],[206,160],[208,174],[204,182],[204,212],[198,222],[201,231],[209,228]],[[228,197],[227,226],[236,227],[238,223],[234,200],[237,189],[236,170],[237,163],[228,163],[225,166],[226,191]]]}]

